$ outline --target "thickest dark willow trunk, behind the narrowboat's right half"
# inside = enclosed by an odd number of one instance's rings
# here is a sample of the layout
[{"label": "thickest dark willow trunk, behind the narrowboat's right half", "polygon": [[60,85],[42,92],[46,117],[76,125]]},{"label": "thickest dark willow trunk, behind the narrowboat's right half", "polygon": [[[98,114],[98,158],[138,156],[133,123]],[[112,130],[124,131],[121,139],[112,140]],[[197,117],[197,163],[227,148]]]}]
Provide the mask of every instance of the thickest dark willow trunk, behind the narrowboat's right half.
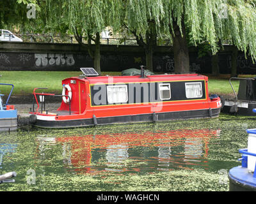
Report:
[{"label": "thickest dark willow trunk, behind the narrowboat's right half", "polygon": [[179,25],[173,23],[173,52],[174,52],[174,69],[176,73],[189,72],[189,50],[186,42],[186,31],[184,20],[182,20],[182,34]]}]

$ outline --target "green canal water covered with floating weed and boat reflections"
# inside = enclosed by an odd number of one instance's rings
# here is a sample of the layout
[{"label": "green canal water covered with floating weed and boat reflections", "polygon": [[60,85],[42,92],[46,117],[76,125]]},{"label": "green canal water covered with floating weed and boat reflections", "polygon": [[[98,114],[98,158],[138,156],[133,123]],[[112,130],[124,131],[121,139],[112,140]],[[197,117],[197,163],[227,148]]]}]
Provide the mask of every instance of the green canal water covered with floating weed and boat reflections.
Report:
[{"label": "green canal water covered with floating weed and boat reflections", "polygon": [[22,126],[0,133],[0,191],[228,191],[254,117],[116,124]]}]

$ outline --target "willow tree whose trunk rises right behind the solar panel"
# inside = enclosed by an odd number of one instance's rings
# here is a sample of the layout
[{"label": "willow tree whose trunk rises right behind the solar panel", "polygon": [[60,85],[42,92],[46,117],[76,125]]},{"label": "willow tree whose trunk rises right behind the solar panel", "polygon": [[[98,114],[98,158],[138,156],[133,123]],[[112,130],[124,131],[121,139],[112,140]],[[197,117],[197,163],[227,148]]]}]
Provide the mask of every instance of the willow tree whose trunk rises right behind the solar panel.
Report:
[{"label": "willow tree whose trunk rises right behind the solar panel", "polygon": [[[115,13],[111,0],[46,0],[48,6],[49,24],[66,22],[55,27],[61,33],[72,33],[78,43],[84,46],[83,38],[87,40],[88,53],[93,59],[93,66],[100,74],[100,33],[111,23],[109,16]],[[95,45],[94,47],[92,45]]]}]

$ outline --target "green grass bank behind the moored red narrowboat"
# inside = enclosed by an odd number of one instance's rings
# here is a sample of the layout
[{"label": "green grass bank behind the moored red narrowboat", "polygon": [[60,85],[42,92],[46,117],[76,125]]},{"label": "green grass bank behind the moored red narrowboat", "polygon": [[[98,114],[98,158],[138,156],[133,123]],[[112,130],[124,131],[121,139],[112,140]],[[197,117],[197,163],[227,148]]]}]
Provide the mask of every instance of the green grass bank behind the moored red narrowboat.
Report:
[{"label": "green grass bank behind the moored red narrowboat", "polygon": [[[102,72],[102,75],[116,76],[120,72]],[[81,75],[81,71],[1,71],[0,83],[13,84],[13,96],[29,96],[35,87],[47,87],[45,92],[61,94],[61,80],[68,77]],[[232,89],[228,82],[230,75],[220,75],[220,77],[209,77],[209,94],[219,94],[222,96],[232,95]],[[252,75],[239,75],[239,77],[254,77]],[[232,82],[234,89],[238,90],[239,83]],[[1,85],[2,94],[7,94],[10,87]]]}]

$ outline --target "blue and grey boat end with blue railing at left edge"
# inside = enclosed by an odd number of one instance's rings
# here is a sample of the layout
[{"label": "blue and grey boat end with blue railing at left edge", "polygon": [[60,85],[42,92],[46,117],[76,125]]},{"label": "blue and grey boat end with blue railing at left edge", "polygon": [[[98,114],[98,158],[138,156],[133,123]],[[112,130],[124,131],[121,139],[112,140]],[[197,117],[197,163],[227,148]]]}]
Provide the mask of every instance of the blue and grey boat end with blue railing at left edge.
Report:
[{"label": "blue and grey boat end with blue railing at left edge", "polygon": [[3,102],[4,94],[0,94],[0,131],[12,131],[18,128],[17,110],[15,110],[13,105],[8,104],[14,86],[13,84],[0,85],[12,86],[12,90],[6,99],[6,103]]}]

